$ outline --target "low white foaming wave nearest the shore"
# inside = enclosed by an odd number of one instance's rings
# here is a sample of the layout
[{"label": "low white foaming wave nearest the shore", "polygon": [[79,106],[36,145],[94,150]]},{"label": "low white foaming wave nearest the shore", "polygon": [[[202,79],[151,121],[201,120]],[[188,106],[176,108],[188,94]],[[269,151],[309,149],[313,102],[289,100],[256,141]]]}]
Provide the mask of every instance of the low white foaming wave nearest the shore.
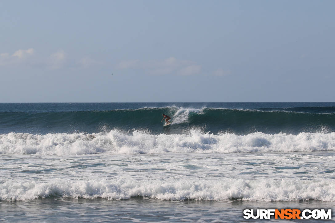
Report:
[{"label": "low white foaming wave nearest the shore", "polygon": [[220,179],[220,180],[9,180],[0,184],[0,200],[24,201],[46,197],[105,198],[146,197],[160,200],[206,201],[335,201],[334,180]]}]

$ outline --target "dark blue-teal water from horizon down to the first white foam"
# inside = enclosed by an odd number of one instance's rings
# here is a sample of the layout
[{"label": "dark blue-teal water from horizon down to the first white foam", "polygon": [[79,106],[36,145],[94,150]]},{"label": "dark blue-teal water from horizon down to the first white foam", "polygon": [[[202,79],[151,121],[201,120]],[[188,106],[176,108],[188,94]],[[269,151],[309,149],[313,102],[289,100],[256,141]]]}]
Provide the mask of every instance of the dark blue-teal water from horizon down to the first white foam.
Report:
[{"label": "dark blue-teal water from horizon down to the first white foam", "polygon": [[[162,113],[175,121],[161,128]],[[335,103],[0,103],[0,133],[334,132]]]}]

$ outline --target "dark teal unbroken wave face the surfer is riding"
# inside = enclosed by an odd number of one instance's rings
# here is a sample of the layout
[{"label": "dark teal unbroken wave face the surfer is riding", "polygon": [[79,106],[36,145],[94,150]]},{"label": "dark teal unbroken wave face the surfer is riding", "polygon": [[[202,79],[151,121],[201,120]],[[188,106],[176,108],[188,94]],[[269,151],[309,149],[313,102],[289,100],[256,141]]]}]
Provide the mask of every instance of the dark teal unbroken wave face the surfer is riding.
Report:
[{"label": "dark teal unbroken wave face the surfer is riding", "polygon": [[[172,117],[162,127],[162,113]],[[286,108],[185,108],[180,106],[82,111],[0,111],[0,133],[35,134],[148,130],[152,134],[182,134],[195,128],[205,132],[246,135],[335,132],[335,106]]]}]

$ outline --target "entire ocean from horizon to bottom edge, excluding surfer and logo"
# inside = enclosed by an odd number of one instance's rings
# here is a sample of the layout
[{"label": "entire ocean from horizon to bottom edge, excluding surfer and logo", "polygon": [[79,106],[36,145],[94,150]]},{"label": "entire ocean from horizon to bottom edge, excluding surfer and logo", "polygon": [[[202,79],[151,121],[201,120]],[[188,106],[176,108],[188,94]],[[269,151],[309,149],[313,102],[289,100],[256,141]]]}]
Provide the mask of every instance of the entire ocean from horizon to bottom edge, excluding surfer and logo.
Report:
[{"label": "entire ocean from horizon to bottom edge, excluding surfer and logo", "polygon": [[4,222],[264,222],[334,207],[335,102],[0,103],[0,160]]}]

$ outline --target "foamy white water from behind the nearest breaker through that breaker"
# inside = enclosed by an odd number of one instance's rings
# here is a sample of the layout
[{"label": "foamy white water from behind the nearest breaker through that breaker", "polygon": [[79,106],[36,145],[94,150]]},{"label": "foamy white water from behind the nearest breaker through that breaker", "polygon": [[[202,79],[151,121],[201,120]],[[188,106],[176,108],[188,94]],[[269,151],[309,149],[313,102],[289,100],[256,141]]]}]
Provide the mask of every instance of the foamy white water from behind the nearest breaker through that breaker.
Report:
[{"label": "foamy white water from behind the nearest breaker through that breaker", "polygon": [[335,202],[334,158],[334,152],[5,155],[0,199]]}]

